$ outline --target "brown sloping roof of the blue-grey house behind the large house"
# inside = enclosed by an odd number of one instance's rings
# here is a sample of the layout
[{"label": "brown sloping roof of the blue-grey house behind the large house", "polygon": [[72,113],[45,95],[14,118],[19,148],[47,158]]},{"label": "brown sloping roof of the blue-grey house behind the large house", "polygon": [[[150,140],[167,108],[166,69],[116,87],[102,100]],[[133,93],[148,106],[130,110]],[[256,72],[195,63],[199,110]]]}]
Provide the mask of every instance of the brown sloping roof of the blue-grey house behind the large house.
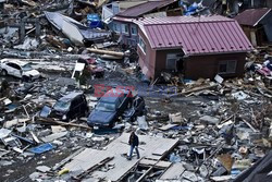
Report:
[{"label": "brown sloping roof of the blue-grey house behind the large house", "polygon": [[124,17],[138,17],[145,13],[148,13],[152,10],[156,10],[158,8],[163,8],[165,5],[169,5],[176,0],[157,0],[157,1],[148,1],[146,3],[141,3],[139,5],[132,7],[129,9],[126,9],[123,12],[118,13],[118,16],[124,16]]}]

